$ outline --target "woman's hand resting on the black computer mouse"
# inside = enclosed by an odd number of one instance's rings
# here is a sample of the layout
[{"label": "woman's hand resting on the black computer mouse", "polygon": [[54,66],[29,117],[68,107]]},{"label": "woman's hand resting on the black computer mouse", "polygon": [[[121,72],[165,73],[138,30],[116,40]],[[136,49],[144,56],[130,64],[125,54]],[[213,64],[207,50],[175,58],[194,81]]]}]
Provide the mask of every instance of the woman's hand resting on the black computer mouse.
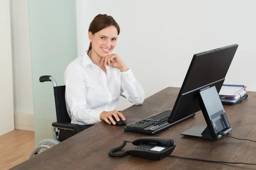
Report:
[{"label": "woman's hand resting on the black computer mouse", "polygon": [[121,112],[116,111],[116,110],[113,110],[113,111],[103,111],[102,113],[100,113],[99,118],[101,120],[104,120],[108,124],[111,124],[111,122],[112,122],[113,125],[116,125],[116,122],[112,118],[112,115],[115,116],[115,118],[116,118],[116,120],[118,122],[119,122],[119,117],[118,116],[120,116],[123,121],[125,120],[125,116]]}]

